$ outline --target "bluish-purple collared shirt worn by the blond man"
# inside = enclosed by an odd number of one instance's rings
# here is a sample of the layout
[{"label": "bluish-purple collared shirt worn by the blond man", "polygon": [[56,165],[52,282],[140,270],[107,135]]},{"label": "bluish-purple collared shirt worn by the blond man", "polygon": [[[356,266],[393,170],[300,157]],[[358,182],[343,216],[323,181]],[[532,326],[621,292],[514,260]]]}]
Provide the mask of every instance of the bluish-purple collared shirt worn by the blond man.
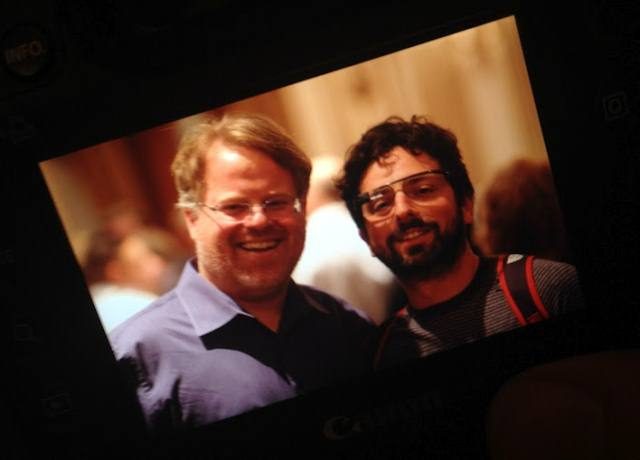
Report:
[{"label": "bluish-purple collared shirt worn by the blond man", "polygon": [[273,332],[192,263],[109,335],[151,431],[205,425],[369,370],[375,328],[355,308],[291,281]]}]

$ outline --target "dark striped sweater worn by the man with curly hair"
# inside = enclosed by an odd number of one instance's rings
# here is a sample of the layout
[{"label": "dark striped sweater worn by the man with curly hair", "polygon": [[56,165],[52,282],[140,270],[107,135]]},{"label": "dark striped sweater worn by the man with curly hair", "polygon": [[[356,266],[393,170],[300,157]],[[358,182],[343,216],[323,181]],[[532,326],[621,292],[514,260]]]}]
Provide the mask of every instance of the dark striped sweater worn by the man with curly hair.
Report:
[{"label": "dark striped sweater worn by the man with curly hair", "polygon": [[[496,258],[482,258],[471,283],[455,297],[425,309],[406,307],[383,325],[376,368],[474,342],[520,327],[500,288]],[[534,259],[535,285],[550,316],[583,305],[572,265]]]}]

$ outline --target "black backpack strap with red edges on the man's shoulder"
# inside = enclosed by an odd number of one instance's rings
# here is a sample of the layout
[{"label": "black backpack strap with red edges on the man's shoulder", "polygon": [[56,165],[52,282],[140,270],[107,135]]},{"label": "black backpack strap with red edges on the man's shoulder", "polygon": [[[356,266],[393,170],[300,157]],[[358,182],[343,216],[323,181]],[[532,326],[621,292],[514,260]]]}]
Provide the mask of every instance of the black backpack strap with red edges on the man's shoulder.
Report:
[{"label": "black backpack strap with red edges on the man's shoulder", "polygon": [[511,311],[522,326],[549,318],[533,277],[534,256],[498,257],[498,281]]}]

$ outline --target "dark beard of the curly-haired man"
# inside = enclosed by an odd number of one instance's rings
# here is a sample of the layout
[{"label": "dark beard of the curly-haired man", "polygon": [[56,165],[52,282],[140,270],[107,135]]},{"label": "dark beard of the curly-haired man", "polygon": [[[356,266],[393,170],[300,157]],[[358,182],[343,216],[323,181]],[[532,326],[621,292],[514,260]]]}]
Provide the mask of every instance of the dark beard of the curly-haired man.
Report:
[{"label": "dark beard of the curly-haired man", "polygon": [[[432,240],[409,246],[403,254],[396,243],[410,230],[431,232]],[[427,280],[449,272],[462,256],[466,244],[466,224],[462,210],[458,209],[444,230],[436,222],[426,222],[418,216],[399,223],[396,231],[387,238],[387,251],[377,256],[400,280]]]}]

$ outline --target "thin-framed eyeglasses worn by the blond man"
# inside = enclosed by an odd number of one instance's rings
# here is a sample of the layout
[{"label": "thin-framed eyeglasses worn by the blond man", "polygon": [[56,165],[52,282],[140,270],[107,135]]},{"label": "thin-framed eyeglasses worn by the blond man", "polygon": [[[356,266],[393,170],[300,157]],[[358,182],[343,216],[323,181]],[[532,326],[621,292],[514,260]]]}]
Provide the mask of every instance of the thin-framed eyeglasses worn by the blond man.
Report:
[{"label": "thin-framed eyeglasses worn by the blond man", "polygon": [[198,203],[198,206],[214,211],[229,222],[242,222],[256,213],[259,208],[269,219],[285,219],[302,211],[302,203],[297,197],[288,195],[270,197],[262,203],[248,203],[246,201],[229,201],[219,205]]}]

